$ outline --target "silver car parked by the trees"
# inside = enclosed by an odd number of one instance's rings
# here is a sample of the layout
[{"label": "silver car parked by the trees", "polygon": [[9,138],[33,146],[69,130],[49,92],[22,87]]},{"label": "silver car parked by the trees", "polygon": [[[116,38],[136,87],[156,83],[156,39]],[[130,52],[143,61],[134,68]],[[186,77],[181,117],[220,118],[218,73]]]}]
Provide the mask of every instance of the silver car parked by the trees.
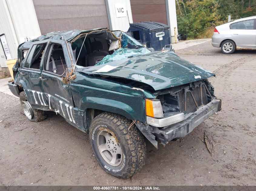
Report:
[{"label": "silver car parked by the trees", "polygon": [[211,44],[221,48],[224,54],[232,54],[237,49],[256,50],[256,16],[215,27]]}]

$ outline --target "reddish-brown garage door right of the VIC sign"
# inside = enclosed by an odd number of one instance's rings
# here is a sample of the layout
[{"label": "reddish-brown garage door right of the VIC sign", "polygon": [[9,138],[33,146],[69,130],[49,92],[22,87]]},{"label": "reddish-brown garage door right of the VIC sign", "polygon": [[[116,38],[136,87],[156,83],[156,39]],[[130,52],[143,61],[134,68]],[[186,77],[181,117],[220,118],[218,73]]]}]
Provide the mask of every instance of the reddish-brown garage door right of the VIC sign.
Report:
[{"label": "reddish-brown garage door right of the VIC sign", "polygon": [[131,0],[133,22],[156,21],[167,24],[165,0]]}]

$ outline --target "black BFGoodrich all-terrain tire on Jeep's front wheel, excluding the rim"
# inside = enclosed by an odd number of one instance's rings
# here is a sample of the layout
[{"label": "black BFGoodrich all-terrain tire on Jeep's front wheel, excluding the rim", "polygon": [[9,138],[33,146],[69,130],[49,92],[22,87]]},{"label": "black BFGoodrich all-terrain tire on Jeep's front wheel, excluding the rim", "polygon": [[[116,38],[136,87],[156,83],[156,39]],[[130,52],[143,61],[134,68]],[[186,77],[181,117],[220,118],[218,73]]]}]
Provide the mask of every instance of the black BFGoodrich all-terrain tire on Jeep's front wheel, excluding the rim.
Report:
[{"label": "black BFGoodrich all-terrain tire on Jeep's front wheel, excluding the rim", "polygon": [[[132,121],[124,116],[104,112],[96,116],[89,129],[91,147],[100,166],[113,176],[119,178],[132,177],[145,164],[146,143],[144,136],[135,125],[130,127]],[[97,146],[99,128],[104,127],[115,134],[122,149],[123,158],[119,166],[112,166],[101,156]]]}]

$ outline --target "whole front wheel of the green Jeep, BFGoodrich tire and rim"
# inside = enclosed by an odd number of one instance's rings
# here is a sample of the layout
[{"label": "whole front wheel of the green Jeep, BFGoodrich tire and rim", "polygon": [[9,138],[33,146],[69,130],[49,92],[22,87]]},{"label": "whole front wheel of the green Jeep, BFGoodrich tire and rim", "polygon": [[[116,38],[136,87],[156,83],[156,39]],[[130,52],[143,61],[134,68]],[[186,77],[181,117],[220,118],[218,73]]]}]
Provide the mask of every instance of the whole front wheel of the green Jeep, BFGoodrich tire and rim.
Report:
[{"label": "whole front wheel of the green Jeep, BFGoodrich tire and rim", "polygon": [[146,143],[124,116],[104,112],[90,126],[91,147],[100,166],[119,178],[133,176],[145,164]]}]

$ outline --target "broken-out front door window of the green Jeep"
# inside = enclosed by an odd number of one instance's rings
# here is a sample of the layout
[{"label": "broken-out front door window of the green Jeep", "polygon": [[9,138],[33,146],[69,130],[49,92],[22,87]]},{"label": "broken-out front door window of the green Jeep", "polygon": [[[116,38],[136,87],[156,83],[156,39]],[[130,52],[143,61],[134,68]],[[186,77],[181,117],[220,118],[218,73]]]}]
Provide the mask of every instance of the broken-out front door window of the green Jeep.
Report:
[{"label": "broken-out front door window of the green Jeep", "polygon": [[62,45],[50,44],[48,47],[44,70],[65,76],[67,64]]}]

